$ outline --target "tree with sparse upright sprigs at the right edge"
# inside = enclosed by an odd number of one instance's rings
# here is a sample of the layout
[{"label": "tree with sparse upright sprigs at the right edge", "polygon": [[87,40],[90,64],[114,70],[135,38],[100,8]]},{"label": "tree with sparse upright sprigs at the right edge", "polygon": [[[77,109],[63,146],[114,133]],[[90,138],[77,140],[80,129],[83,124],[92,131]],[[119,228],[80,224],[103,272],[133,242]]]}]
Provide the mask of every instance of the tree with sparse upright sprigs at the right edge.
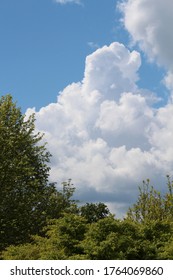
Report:
[{"label": "tree with sparse upright sprigs at the right edge", "polygon": [[169,176],[167,179],[168,191],[162,195],[150,185],[149,179],[143,181],[137,202],[127,212],[126,220],[140,225],[140,259],[166,259],[172,254],[167,244],[173,230],[173,182]]}]

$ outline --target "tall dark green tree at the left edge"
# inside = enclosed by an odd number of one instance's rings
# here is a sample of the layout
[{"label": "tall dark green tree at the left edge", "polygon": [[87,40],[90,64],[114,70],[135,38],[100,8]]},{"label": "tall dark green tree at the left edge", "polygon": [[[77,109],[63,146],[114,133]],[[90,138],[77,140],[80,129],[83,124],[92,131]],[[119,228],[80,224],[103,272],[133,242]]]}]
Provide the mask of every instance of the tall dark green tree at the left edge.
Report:
[{"label": "tall dark green tree at the left edge", "polygon": [[11,95],[0,99],[0,249],[40,233],[56,196],[49,183],[50,153]]}]

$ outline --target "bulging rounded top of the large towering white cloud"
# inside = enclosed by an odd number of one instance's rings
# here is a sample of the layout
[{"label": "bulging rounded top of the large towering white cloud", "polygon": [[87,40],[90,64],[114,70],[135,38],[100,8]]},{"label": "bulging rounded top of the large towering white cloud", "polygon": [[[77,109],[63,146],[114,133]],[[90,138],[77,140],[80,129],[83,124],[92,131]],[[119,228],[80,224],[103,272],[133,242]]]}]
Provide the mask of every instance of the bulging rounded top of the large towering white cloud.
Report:
[{"label": "bulging rounded top of the large towering white cloud", "polygon": [[140,64],[136,51],[118,43],[104,46],[86,58],[83,91],[97,90],[102,98],[118,100],[122,92],[136,91]]}]

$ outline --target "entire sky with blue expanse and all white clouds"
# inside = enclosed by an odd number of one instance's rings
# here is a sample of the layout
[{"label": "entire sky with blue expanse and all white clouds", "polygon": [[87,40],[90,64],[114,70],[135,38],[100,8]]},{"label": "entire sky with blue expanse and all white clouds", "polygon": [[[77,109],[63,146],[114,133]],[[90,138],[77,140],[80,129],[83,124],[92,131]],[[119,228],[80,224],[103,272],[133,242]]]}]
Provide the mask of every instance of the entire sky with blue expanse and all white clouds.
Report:
[{"label": "entire sky with blue expanse and all white clouds", "polygon": [[50,180],[118,217],[173,170],[172,0],[0,0],[0,96],[52,154]]}]

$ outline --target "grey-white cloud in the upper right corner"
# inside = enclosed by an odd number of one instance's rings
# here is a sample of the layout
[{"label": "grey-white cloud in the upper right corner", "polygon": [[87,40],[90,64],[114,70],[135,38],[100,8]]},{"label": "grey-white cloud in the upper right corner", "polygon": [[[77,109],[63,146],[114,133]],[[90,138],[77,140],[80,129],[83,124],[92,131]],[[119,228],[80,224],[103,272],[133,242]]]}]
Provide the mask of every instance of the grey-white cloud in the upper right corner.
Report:
[{"label": "grey-white cloud in the upper right corner", "polygon": [[164,82],[173,96],[173,1],[123,0],[120,8],[133,42],[168,71]]}]

